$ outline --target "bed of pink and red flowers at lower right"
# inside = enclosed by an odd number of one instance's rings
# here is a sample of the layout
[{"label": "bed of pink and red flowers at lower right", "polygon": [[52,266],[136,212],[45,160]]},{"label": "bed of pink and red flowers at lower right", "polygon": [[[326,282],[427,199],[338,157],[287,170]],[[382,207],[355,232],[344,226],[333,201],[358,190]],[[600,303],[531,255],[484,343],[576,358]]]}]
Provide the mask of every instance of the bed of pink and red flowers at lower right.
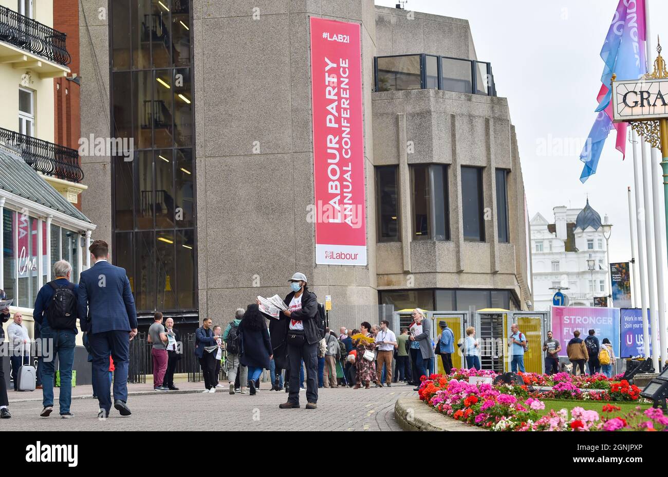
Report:
[{"label": "bed of pink and red flowers at lower right", "polygon": [[[466,376],[468,379],[470,375],[478,375],[477,372],[479,371],[462,373],[461,369],[456,369],[450,376],[440,374],[433,374],[429,378],[423,376],[418,391],[420,400],[446,416],[495,431],[668,430],[668,416],[664,416],[660,409],[647,409],[642,412],[638,407],[621,417],[611,416],[620,408],[607,404],[603,406],[601,415],[596,411],[575,407],[571,410],[570,416],[565,409],[550,410],[548,414],[540,416],[538,411],[544,410],[545,404],[536,397],[524,395],[527,392],[526,385],[494,386],[486,383],[476,385],[454,377],[463,378],[468,374]],[[632,399],[635,390],[625,382],[622,381],[619,385],[613,383],[611,393]],[[554,387],[558,388],[555,392],[570,396],[569,398],[574,398],[574,394],[583,394],[567,379],[557,380]]]}]

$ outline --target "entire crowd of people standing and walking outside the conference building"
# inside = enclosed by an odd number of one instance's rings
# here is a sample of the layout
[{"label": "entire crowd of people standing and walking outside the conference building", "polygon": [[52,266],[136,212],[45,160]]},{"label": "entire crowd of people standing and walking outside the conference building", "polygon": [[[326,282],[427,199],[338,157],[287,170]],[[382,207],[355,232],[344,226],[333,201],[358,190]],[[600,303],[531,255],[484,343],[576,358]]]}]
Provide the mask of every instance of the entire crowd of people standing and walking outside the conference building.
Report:
[{"label": "entire crowd of people standing and walking outside the conference building", "polygon": [[[129,341],[137,334],[137,317],[130,283],[124,269],[108,263],[108,245],[95,241],[91,247],[94,265],[83,271],[79,284],[71,283],[72,267],[67,261],[53,266],[55,279],[44,285],[37,294],[33,317],[42,339],[53,341],[52,359],[39,358],[37,387],[43,391],[43,410],[40,416],[53,412],[53,385],[55,357],[59,364],[59,414],[71,418],[71,375],[75,349],[75,335],[79,319],[84,331],[83,343],[92,362],[93,393],[100,402],[99,418],[106,418],[112,406],[110,390],[113,382],[114,408],[122,416],[131,414],[127,402]],[[402,327],[399,335],[390,329],[389,321],[379,325],[367,321],[355,329],[341,327],[339,333],[325,327],[315,293],[309,291],[307,277],[295,273],[289,279],[290,293],[285,297],[287,309],[278,319],[268,319],[257,303],[237,309],[234,319],[224,326],[213,325],[204,318],[195,333],[194,354],[202,367],[204,393],[214,393],[224,387],[218,381],[223,358],[226,359],[227,386],[230,394],[256,395],[260,391],[260,377],[270,371],[271,389],[288,393],[287,402],[279,408],[299,408],[300,389],[306,387],[307,409],[317,408],[318,389],[323,387],[391,387],[393,383],[407,383],[417,390],[422,375],[434,373],[436,355],[440,355],[446,373],[452,371],[452,353],[455,345],[462,347],[466,367],[480,369],[481,346],[476,329],[468,327],[466,338],[456,343],[455,335],[444,320],[438,322],[436,342],[432,339],[434,323],[426,313],[415,308],[411,323]],[[0,299],[6,299],[0,290]],[[9,309],[0,310],[0,322],[11,317]],[[11,356],[11,373],[15,390],[21,390],[21,369],[25,356],[30,355],[30,339],[23,325],[20,311],[14,313],[7,332],[18,352]],[[164,322],[164,323],[163,323]],[[512,371],[524,371],[524,353],[528,340],[516,323],[508,337],[508,354]],[[543,343],[545,367],[550,374],[558,371],[560,343],[548,331]],[[602,342],[589,330],[587,338],[580,332],[568,342],[566,352],[572,363],[572,372],[603,372],[611,377],[615,354],[610,340]],[[4,331],[0,327],[0,340]],[[164,321],[162,313],[154,314],[154,323],[148,329],[151,345],[153,385],[156,391],[178,390],[174,385],[174,369],[182,359],[180,334],[174,329],[174,320]],[[3,357],[0,356],[0,418],[10,418],[7,389],[3,375]],[[114,379],[112,380],[112,374]],[[41,383],[39,382],[41,381]],[[306,383],[306,386],[305,386]]]}]

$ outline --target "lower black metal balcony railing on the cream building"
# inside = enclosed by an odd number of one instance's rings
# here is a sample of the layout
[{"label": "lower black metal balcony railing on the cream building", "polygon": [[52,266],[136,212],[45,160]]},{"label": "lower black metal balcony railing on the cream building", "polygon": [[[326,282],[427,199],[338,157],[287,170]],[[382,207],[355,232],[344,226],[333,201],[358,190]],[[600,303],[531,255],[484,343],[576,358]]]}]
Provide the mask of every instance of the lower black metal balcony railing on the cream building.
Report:
[{"label": "lower black metal balcony railing on the cream building", "polygon": [[79,152],[75,149],[5,128],[0,128],[0,143],[19,151],[25,163],[37,172],[71,182],[83,180]]}]

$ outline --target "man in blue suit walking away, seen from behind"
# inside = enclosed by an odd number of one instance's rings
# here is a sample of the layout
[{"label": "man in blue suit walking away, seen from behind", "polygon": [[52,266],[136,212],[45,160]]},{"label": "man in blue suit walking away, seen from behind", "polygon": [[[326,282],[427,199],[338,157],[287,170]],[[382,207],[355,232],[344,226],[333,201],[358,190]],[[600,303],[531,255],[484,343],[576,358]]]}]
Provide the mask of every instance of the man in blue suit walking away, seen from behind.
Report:
[{"label": "man in blue suit walking away, seen from behind", "polygon": [[109,395],[109,356],[114,358],[114,408],[130,416],[128,402],[128,360],[130,340],[137,335],[137,311],[125,269],[107,261],[109,245],[96,240],[90,248],[94,265],[81,272],[78,305],[81,329],[88,331],[93,355],[93,381],[98,391],[100,412],[106,418],[112,408]]}]

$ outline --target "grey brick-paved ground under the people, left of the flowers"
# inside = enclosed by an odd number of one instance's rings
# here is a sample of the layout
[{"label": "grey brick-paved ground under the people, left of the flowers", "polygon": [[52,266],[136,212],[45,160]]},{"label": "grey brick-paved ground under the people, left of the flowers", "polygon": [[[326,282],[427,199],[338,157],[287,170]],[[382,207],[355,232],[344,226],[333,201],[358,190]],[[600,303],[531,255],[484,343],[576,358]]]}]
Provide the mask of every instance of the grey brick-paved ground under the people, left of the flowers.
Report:
[{"label": "grey brick-paved ground under the people, left of the flowers", "polygon": [[[11,419],[0,421],[0,432],[11,430],[323,430],[323,431],[399,431],[394,420],[394,405],[399,397],[417,395],[403,383],[394,387],[371,389],[319,389],[318,408],[307,410],[305,390],[301,408],[279,409],[287,400],[283,391],[269,391],[263,383],[261,392],[230,395],[226,388],[216,393],[201,393],[202,383],[176,383],[181,391],[155,393],[152,385],[128,385],[128,406],[132,416],[122,418],[112,408],[107,420],[98,420],[98,401],[92,399],[90,386],[77,386],[72,400],[73,419],[58,416],[57,397],[53,414],[40,418],[41,390],[10,391]],[[183,392],[182,392],[183,391]],[[57,391],[56,391],[57,393]]]}]

